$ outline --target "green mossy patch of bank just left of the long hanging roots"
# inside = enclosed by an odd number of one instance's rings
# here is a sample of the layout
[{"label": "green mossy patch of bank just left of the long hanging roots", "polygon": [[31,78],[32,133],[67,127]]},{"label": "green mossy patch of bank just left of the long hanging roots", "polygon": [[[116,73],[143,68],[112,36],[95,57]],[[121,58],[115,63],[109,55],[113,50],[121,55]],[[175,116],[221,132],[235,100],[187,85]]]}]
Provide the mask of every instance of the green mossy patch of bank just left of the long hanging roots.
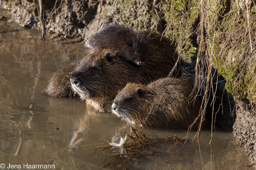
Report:
[{"label": "green mossy patch of bank just left of the long hanging roots", "polygon": [[[172,11],[170,10],[171,4],[175,8]],[[185,6],[185,4],[187,5]],[[195,50],[197,47],[192,43],[194,37],[191,35],[197,29],[197,24],[195,25],[194,22],[199,16],[198,2],[196,0],[186,0],[186,3],[185,0],[167,0],[164,10],[165,18],[163,19],[169,23],[169,29],[165,32],[165,36],[175,40],[177,51],[183,60],[190,62],[191,59],[195,59],[197,51]]]}]

